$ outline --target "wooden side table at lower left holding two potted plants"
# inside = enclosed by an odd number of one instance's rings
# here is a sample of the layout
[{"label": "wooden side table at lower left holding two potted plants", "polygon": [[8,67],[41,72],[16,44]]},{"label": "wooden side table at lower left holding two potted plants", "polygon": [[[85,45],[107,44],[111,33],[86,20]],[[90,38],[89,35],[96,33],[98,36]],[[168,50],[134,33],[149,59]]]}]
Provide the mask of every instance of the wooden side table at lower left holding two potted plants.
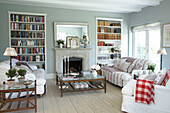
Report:
[{"label": "wooden side table at lower left holding two potted plants", "polygon": [[[25,97],[20,97],[22,92],[26,92]],[[8,97],[5,96],[7,93],[9,94]],[[17,98],[11,98],[14,93],[17,93]],[[33,93],[35,96],[31,97]],[[27,102],[25,108],[21,108],[23,101]],[[13,103],[17,104],[16,108],[11,108]],[[21,84],[20,87],[10,88],[7,84],[0,86],[0,112],[13,112],[28,109],[35,109],[35,112],[37,112],[36,81],[35,84],[28,85],[27,87],[24,84]]]}]

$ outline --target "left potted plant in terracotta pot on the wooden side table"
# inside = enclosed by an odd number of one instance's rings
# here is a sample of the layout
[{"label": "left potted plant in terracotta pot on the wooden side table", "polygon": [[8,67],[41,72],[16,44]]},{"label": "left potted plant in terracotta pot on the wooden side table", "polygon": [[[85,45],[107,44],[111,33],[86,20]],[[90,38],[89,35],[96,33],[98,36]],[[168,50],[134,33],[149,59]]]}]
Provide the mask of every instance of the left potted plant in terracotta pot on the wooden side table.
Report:
[{"label": "left potted plant in terracotta pot on the wooden side table", "polygon": [[9,69],[8,72],[6,72],[5,74],[7,75],[8,78],[10,78],[9,80],[7,80],[7,84],[10,87],[15,81],[12,78],[17,76],[17,70],[15,68],[14,69]]}]

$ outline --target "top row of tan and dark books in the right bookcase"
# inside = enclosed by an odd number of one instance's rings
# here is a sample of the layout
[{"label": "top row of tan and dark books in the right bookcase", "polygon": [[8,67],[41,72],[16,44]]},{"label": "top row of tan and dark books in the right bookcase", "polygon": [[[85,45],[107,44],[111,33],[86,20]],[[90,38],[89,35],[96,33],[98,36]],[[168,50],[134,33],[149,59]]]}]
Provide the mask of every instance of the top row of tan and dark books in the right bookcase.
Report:
[{"label": "top row of tan and dark books in the right bookcase", "polygon": [[121,26],[120,23],[113,23],[113,22],[109,22],[109,21],[98,21],[97,25],[98,26],[115,26],[115,27]]}]

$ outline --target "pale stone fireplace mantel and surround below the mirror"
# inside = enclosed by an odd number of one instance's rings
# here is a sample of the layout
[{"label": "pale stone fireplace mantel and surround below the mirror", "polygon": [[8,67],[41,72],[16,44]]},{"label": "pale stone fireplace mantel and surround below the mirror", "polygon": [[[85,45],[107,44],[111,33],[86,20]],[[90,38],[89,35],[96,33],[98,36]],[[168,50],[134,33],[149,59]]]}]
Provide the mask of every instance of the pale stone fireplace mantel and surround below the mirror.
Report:
[{"label": "pale stone fireplace mantel and surround below the mirror", "polygon": [[56,59],[56,72],[63,73],[63,58],[65,56],[82,58],[82,70],[89,70],[90,50],[91,48],[54,48]]}]

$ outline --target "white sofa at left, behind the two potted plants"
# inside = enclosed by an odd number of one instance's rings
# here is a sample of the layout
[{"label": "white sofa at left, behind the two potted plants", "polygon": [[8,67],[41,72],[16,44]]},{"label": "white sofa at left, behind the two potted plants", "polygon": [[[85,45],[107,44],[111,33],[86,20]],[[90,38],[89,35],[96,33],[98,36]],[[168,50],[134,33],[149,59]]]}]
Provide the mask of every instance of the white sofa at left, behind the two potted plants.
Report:
[{"label": "white sofa at left, behind the two potted plants", "polygon": [[[35,80],[37,83],[37,94],[42,95],[46,91],[46,72],[44,69],[37,69],[34,65],[29,65],[31,69],[29,69],[25,65],[17,66],[16,63],[18,62],[17,59],[12,59],[12,67],[16,69],[25,69],[27,71],[27,74],[25,76],[25,79],[31,79]],[[0,83],[3,83],[3,81],[6,81],[8,78],[5,75],[5,73],[10,69],[9,60],[0,62]],[[15,78],[17,81],[17,79]],[[24,93],[21,95],[23,96]]]}]

